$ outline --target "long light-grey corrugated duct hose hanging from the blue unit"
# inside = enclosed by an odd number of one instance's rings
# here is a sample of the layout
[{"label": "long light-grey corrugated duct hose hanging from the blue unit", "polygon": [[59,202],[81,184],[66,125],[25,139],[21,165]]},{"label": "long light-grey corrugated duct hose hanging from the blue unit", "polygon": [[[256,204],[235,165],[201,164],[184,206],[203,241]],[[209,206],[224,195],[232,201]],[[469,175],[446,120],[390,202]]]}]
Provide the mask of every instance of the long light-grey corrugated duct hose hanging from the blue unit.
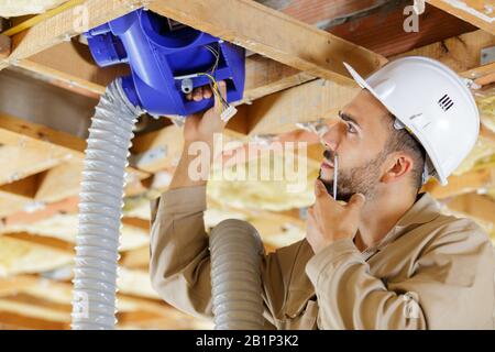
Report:
[{"label": "long light-grey corrugated duct hose hanging from the blue unit", "polygon": [[89,129],[79,199],[73,323],[113,329],[119,238],[129,147],[138,117],[117,79],[101,97]]}]

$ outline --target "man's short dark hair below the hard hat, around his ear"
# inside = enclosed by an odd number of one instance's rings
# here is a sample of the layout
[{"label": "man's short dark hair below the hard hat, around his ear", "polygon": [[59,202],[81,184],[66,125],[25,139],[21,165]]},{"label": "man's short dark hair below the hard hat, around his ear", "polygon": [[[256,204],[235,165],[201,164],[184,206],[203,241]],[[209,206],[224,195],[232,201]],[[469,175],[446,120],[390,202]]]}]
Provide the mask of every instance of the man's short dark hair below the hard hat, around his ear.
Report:
[{"label": "man's short dark hair below the hard hat, around his ear", "polygon": [[385,146],[386,155],[394,152],[406,152],[413,158],[411,180],[416,193],[418,193],[422,186],[426,151],[406,129],[397,130],[394,127],[395,116],[392,113],[389,116],[391,119],[387,119],[389,135]]}]

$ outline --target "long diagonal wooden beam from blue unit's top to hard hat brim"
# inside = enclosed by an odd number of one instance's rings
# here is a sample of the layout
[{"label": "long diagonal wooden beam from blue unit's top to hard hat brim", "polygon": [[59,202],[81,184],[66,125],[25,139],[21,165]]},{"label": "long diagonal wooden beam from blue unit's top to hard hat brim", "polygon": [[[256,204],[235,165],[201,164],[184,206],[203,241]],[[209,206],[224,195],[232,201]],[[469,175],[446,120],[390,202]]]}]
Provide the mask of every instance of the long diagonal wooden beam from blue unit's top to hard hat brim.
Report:
[{"label": "long diagonal wooden beam from blue unit's top to hard hat brim", "polygon": [[363,74],[386,62],[381,55],[255,1],[162,0],[151,2],[148,8],[285,65],[344,84],[352,81],[343,61]]}]

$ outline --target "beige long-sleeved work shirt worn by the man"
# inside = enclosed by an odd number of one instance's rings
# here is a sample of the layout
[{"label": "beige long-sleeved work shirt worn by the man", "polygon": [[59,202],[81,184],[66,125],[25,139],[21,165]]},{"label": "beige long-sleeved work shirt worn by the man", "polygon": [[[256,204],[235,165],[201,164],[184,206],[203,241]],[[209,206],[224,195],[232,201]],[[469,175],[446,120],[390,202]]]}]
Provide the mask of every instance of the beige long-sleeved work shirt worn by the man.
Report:
[{"label": "beige long-sleeved work shirt worn by the man", "polygon": [[[206,187],[165,193],[152,207],[151,279],[168,304],[212,317]],[[468,219],[419,197],[376,248],[339,240],[317,255],[306,240],[264,255],[266,329],[494,329],[495,255]]]}]

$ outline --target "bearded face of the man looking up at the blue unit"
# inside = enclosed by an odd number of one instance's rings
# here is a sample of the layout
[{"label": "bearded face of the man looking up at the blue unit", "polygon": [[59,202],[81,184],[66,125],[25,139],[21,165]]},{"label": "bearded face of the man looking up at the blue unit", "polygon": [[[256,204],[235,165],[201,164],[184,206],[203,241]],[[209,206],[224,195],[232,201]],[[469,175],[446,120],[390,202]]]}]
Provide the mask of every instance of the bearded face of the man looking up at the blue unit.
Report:
[{"label": "bearded face of the man looking up at the blue unit", "polygon": [[340,112],[339,121],[328,124],[323,135],[324,158],[320,179],[333,195],[333,158],[338,155],[337,199],[349,201],[361,193],[370,200],[376,193],[386,158],[385,143],[391,123],[386,108],[367,90]]}]

